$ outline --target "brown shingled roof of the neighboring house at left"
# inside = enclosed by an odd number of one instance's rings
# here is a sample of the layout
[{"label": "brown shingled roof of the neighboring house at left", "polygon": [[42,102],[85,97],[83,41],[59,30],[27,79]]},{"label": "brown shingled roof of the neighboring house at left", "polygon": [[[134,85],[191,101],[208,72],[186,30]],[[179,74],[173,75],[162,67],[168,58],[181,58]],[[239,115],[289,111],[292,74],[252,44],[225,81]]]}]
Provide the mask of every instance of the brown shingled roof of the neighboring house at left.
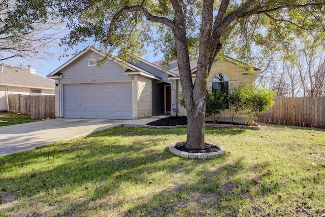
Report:
[{"label": "brown shingled roof of the neighboring house at left", "polygon": [[54,82],[30,73],[30,69],[22,69],[1,64],[0,85],[27,87],[38,89],[55,89]]}]

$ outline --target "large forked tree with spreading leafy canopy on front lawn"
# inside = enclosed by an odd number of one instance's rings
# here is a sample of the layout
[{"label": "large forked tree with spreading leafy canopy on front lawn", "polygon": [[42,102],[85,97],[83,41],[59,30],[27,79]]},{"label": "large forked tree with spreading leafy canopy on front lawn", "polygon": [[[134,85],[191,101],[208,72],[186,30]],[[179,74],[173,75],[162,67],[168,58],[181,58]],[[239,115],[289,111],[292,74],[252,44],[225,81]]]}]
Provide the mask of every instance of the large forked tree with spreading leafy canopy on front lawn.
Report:
[{"label": "large forked tree with spreading leafy canopy on front lawn", "polygon": [[[30,1],[30,0],[29,0]],[[188,117],[186,148],[202,149],[206,84],[220,53],[249,63],[254,49],[289,49],[302,32],[325,39],[323,0],[53,0],[51,9],[70,20],[63,43],[91,38],[124,60],[147,46],[177,59]],[[189,56],[198,58],[192,82]],[[243,65],[245,67],[245,65]],[[247,68],[249,69],[249,67]]]}]

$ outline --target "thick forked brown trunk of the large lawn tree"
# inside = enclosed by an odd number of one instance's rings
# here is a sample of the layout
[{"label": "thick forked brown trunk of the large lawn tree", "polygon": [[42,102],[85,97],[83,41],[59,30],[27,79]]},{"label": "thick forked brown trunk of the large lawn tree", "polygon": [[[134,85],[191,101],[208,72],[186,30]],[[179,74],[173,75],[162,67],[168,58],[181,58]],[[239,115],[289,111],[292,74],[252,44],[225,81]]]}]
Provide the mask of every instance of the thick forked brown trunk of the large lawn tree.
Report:
[{"label": "thick forked brown trunk of the large lawn tree", "polygon": [[[179,23],[185,20],[177,19]],[[184,19],[185,17],[183,17]],[[211,56],[211,33],[213,20],[213,1],[204,1],[202,10],[202,25],[200,29],[199,58],[197,76],[195,83],[192,83],[192,76],[189,67],[188,49],[186,43],[186,30],[178,28],[174,32],[177,51],[178,69],[181,78],[181,86],[184,94],[184,101],[187,112],[187,149],[204,149],[204,122],[205,103],[207,98],[207,81],[209,70],[215,55]],[[181,25],[178,25],[181,26]],[[218,41],[217,41],[218,42]]]}]

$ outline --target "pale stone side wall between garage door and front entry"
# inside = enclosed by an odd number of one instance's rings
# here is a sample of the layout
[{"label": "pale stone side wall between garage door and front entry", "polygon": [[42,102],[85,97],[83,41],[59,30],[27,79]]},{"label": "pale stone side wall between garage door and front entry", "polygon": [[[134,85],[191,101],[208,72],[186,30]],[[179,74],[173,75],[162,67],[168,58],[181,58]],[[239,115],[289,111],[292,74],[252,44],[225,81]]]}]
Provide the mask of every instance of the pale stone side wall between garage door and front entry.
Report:
[{"label": "pale stone side wall between garage door and front entry", "polygon": [[152,116],[151,80],[134,76],[133,79],[133,118]]}]

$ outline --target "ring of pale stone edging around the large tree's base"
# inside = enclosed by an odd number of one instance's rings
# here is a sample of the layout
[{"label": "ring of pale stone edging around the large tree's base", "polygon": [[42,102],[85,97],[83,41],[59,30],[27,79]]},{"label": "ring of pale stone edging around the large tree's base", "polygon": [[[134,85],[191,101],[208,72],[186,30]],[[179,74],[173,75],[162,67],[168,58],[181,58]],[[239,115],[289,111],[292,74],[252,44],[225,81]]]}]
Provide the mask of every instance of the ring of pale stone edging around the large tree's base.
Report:
[{"label": "ring of pale stone edging around the large tree's base", "polygon": [[[168,146],[168,149],[174,155],[181,156],[183,158],[210,159],[210,158],[219,157],[225,153],[225,149],[222,146],[218,146],[217,144],[214,144],[214,145],[220,149],[218,152],[191,153],[191,152],[184,152],[184,151],[180,151],[180,150],[176,149],[175,148],[176,143],[178,143],[178,142],[171,143]],[[208,143],[208,142],[206,142],[206,143]],[[213,143],[209,143],[209,144],[213,144]]]}]

